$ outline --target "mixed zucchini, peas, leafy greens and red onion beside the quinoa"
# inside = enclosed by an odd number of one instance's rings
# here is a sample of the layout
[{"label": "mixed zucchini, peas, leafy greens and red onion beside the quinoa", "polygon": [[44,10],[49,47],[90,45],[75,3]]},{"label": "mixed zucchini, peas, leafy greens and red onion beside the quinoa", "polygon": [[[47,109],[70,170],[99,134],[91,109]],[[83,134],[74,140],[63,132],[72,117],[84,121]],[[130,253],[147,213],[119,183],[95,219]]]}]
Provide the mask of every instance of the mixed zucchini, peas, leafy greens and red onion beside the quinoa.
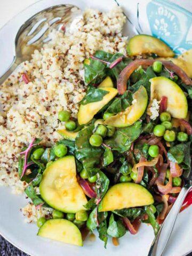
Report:
[{"label": "mixed zucchini, peas, leafy greens and red onion beside the quinoa", "polygon": [[[190,185],[190,63],[159,39],[138,37],[130,39],[129,58],[97,51],[86,59],[78,119],[60,111],[63,139],[44,147],[34,138],[20,153],[27,196],[53,209],[37,221],[39,236],[82,245],[79,230],[97,229],[106,247],[109,237],[136,234],[141,222],[157,234]],[[135,58],[143,53],[150,56]]]}]

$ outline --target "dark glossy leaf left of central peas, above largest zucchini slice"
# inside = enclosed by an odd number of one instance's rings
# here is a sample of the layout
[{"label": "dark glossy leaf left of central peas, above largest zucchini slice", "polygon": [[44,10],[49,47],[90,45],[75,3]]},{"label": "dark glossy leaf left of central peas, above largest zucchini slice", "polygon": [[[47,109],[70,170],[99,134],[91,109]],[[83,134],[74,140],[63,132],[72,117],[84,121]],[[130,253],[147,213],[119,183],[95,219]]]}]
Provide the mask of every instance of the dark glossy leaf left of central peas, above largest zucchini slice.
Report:
[{"label": "dark glossy leaf left of central peas, above largest zucchini slice", "polygon": [[83,168],[87,171],[89,177],[92,177],[99,171],[97,165],[100,163],[103,153],[101,148],[92,147],[89,143],[93,129],[94,126],[91,125],[79,131],[75,139],[75,157],[83,164]]}]

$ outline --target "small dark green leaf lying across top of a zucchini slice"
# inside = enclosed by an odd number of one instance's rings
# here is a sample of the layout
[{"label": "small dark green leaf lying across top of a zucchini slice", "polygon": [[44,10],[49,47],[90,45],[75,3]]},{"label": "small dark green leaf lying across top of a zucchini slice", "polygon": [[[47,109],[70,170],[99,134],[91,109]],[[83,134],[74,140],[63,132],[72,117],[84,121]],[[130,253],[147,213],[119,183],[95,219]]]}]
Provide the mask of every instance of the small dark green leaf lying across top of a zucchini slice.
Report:
[{"label": "small dark green leaf lying across top of a zucchini slice", "polygon": [[81,105],[86,105],[91,102],[101,101],[107,93],[109,92],[102,89],[97,89],[90,85],[85,97],[79,103]]}]

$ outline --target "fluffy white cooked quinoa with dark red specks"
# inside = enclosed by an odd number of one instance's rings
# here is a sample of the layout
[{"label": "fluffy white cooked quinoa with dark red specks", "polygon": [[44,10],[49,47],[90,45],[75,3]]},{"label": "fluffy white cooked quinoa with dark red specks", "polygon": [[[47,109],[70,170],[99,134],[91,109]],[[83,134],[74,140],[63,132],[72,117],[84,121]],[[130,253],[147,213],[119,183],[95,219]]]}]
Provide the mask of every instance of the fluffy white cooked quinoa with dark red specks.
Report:
[{"label": "fluffy white cooked quinoa with dark red specks", "polygon": [[[19,152],[34,137],[43,139],[46,146],[61,138],[57,130],[65,123],[58,120],[58,112],[69,110],[77,117],[78,102],[86,92],[84,59],[97,50],[126,55],[124,23],[117,6],[108,13],[87,9],[73,31],[53,30],[52,40],[0,85],[0,185],[11,186],[15,194],[23,192],[27,184],[19,180]],[[23,74],[29,83],[23,81]],[[33,204],[22,213],[28,222],[49,214]]]}]

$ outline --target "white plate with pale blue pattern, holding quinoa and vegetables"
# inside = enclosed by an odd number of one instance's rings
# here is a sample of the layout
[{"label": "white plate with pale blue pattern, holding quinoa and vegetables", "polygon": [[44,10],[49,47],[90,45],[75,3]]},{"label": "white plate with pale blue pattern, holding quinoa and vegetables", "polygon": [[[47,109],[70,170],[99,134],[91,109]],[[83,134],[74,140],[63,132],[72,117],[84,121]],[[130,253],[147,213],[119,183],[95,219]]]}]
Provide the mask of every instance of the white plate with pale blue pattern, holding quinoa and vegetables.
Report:
[{"label": "white plate with pale blue pattern, holding quinoa and vegetables", "polygon": [[[190,43],[192,41],[191,28],[187,26],[187,23],[182,24],[182,22],[186,22],[187,19],[190,20],[191,14],[189,12],[175,9],[175,6],[172,5],[170,10],[169,6],[166,7],[165,2],[163,0],[142,0],[142,1],[127,1],[120,0],[121,4],[125,8],[125,13],[129,15],[131,21],[135,23],[135,27],[139,29],[137,23],[137,2],[140,2],[140,25],[141,29],[144,33],[150,33],[150,26],[148,23],[147,17],[151,17],[153,19],[153,10],[151,11],[151,6],[154,6],[157,14],[160,14],[159,18],[163,19],[167,23],[169,20],[166,20],[166,15],[169,14],[169,11],[172,12],[172,15],[177,16],[177,26],[185,29],[185,35],[182,35],[182,40],[180,40],[179,46],[180,49],[188,49],[191,47]],[[150,3],[149,3],[150,2]],[[185,1],[188,3],[188,10],[192,9],[191,1]],[[36,12],[45,9],[46,7],[50,7],[56,4],[70,3],[79,6],[81,9],[85,7],[93,7],[100,10],[109,10],[115,2],[113,0],[43,0],[34,5],[31,5],[18,14],[17,17],[14,17],[10,20],[1,30],[0,30],[0,55],[1,61],[0,63],[0,75],[3,71],[8,67],[13,58],[13,40],[15,33],[17,33],[19,27],[22,23],[27,20],[31,15]],[[149,8],[150,7],[150,8]],[[147,8],[148,12],[147,12]],[[157,9],[155,9],[157,8]],[[167,8],[167,9],[166,9]],[[190,9],[191,8],[191,9]],[[167,11],[168,10],[168,11]],[[149,13],[150,11],[150,13]],[[158,13],[158,11],[160,11]],[[165,13],[167,11],[167,13]],[[179,14],[178,14],[179,12]],[[185,15],[184,15],[184,14]],[[163,18],[162,18],[163,15]],[[168,16],[167,16],[168,17]],[[181,19],[181,18],[182,19]],[[163,22],[163,21],[162,21]],[[164,22],[163,24],[165,25]],[[157,21],[158,23],[158,21]],[[188,21],[189,25],[191,21]],[[168,24],[170,25],[170,24]],[[126,26],[130,27],[129,24]],[[167,27],[167,26],[166,26]],[[169,28],[169,26],[168,26]],[[133,29],[129,29],[129,31],[133,31]],[[165,31],[165,30],[164,30]],[[167,30],[168,31],[168,30]],[[157,31],[158,32],[158,31]],[[169,31],[168,31],[169,32]],[[182,32],[182,31],[181,31]],[[166,33],[166,31],[165,31]],[[129,33],[128,33],[129,34]],[[158,35],[158,34],[157,34]],[[167,34],[168,35],[168,34]],[[172,35],[172,34],[171,34]],[[167,36],[167,42],[169,44],[173,44],[174,42],[170,42]],[[162,35],[162,37],[165,35]],[[181,35],[180,35],[181,39]],[[165,40],[166,41],[166,40]],[[177,47],[176,47],[177,46]],[[178,45],[175,46],[175,49],[179,49]],[[13,245],[17,246],[22,251],[33,255],[33,256],[98,256],[98,255],[123,255],[127,256],[146,256],[150,247],[151,242],[154,238],[153,229],[143,224],[139,230],[137,235],[131,235],[127,233],[123,238],[120,239],[120,245],[115,247],[110,239],[107,245],[107,250],[103,247],[103,242],[97,238],[95,242],[91,242],[89,240],[84,242],[83,247],[71,246],[67,244],[62,244],[54,241],[49,241],[36,236],[37,227],[36,225],[26,224],[23,220],[22,214],[19,209],[22,206],[26,205],[26,199],[24,196],[15,196],[11,194],[10,188],[0,187],[0,233],[3,235],[8,241],[10,241]],[[173,234],[170,239],[169,247],[165,252],[166,256],[181,256],[186,255],[189,251],[192,251],[191,244],[191,234],[192,234],[192,207],[189,207],[187,210],[183,211],[179,214],[177,223],[175,225]]]}]

